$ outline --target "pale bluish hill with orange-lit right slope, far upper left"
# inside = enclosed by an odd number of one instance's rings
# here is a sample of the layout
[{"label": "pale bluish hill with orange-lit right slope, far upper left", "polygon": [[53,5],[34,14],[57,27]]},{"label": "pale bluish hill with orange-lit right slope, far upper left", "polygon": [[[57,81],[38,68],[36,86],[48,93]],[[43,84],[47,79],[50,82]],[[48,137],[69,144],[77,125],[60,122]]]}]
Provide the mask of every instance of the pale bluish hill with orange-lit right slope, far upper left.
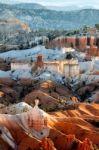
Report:
[{"label": "pale bluish hill with orange-lit right slope, far upper left", "polygon": [[[30,37],[29,33],[31,32],[31,29],[26,23],[17,19],[10,13],[9,10],[4,16],[0,17],[0,41],[2,43],[0,45],[0,51],[22,49],[24,47],[23,45],[29,48],[26,36]],[[7,69],[7,67],[4,69]]]}]

